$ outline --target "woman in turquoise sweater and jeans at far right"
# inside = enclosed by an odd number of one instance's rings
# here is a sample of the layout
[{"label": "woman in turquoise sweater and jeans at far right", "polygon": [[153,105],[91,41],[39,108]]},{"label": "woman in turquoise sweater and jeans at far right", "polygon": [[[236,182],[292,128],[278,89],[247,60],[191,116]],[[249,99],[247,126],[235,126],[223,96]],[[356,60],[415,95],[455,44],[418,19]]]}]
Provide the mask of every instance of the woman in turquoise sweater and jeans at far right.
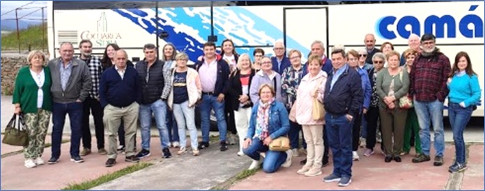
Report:
[{"label": "woman in turquoise sweater and jeans at far right", "polygon": [[481,97],[478,77],[472,69],[470,56],[466,52],[456,54],[452,72],[447,82],[449,89],[448,118],[453,130],[455,144],[455,162],[449,167],[449,172],[459,172],[466,169],[465,130],[472,112]]}]

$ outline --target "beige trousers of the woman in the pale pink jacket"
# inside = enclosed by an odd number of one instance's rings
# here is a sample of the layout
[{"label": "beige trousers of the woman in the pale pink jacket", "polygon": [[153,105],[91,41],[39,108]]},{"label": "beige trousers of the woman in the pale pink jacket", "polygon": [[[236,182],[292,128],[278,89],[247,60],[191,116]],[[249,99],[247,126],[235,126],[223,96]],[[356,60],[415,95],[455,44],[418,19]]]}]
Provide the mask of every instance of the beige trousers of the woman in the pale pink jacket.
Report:
[{"label": "beige trousers of the woman in the pale pink jacket", "polygon": [[307,142],[307,166],[322,167],[323,125],[302,125],[303,137]]}]

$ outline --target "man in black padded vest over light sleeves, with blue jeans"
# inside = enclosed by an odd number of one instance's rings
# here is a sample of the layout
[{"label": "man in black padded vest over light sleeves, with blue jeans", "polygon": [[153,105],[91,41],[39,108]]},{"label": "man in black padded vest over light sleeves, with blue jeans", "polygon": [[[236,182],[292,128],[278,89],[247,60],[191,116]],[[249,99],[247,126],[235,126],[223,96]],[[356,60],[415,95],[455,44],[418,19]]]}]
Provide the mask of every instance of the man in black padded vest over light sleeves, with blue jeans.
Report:
[{"label": "man in black padded vest over light sleeves, with blue jeans", "polygon": [[171,82],[164,80],[164,62],[156,57],[157,47],[153,44],[144,46],[145,59],[139,61],[134,67],[137,69],[141,84],[140,126],[141,151],[137,158],[146,158],[150,155],[150,128],[152,114],[155,116],[157,129],[160,133],[163,158],[170,158],[169,130],[165,123],[167,115],[167,97],[171,89]]}]

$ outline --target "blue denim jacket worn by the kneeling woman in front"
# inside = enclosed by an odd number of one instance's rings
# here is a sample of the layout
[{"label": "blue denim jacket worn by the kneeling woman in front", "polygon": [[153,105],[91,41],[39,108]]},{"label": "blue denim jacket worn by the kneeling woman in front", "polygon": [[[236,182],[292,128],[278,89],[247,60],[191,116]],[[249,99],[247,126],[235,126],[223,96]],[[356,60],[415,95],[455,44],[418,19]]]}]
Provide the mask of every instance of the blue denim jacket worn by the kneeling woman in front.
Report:
[{"label": "blue denim jacket worn by the kneeling woman in front", "polygon": [[[246,139],[252,139],[254,137],[254,132],[256,132],[256,115],[258,114],[258,107],[259,102],[252,108]],[[290,120],[288,119],[288,112],[282,102],[277,100],[272,102],[269,121],[270,126],[268,127],[268,131],[271,139],[276,139],[288,134],[288,131],[290,130]]]}]

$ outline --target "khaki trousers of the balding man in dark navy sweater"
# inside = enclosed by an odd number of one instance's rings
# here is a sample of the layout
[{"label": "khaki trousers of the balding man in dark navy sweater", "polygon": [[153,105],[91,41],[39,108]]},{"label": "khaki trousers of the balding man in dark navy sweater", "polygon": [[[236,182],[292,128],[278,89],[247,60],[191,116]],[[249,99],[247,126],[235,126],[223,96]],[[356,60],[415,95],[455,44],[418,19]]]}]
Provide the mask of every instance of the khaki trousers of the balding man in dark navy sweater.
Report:
[{"label": "khaki trousers of the balding man in dark navy sweater", "polygon": [[138,111],[137,102],[133,102],[128,107],[114,107],[112,105],[105,107],[105,116],[102,119],[108,131],[108,158],[116,159],[118,154],[116,148],[121,120],[125,125],[125,154],[127,157],[134,155],[134,133],[137,132]]}]

